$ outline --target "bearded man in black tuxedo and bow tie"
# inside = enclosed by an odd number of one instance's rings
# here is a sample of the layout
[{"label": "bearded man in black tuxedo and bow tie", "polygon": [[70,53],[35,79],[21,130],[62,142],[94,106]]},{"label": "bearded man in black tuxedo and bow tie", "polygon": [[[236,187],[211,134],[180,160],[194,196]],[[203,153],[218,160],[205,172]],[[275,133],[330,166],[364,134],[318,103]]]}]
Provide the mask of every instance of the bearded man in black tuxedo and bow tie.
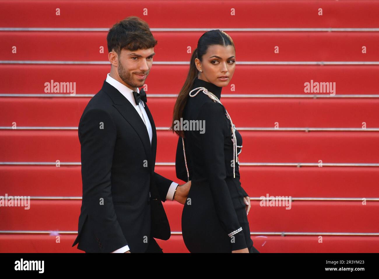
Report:
[{"label": "bearded man in black tuxedo and bow tie", "polygon": [[111,71],[80,118],[83,199],[72,246],[86,252],[162,252],[170,226],[161,201],[185,203],[180,185],[154,172],[157,132],[139,87],[152,66],[149,26],[138,17],[115,24],[107,36]]}]

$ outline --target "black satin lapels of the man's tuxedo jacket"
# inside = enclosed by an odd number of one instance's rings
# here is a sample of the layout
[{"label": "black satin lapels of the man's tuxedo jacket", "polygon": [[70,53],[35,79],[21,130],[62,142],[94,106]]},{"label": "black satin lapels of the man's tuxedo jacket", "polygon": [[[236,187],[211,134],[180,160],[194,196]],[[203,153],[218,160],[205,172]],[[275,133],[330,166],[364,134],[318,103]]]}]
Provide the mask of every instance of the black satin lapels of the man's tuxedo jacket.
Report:
[{"label": "black satin lapels of the man's tuxedo jacket", "polygon": [[[141,139],[143,143],[143,147],[147,156],[148,167],[150,168],[150,170],[154,170],[155,162],[153,162],[153,159],[152,159],[152,146],[150,146],[149,133],[147,132],[146,125],[141,119],[141,117],[139,116],[139,113],[132,106],[132,104],[130,104],[128,99],[126,99],[121,94],[120,91],[118,91],[112,85],[108,84],[108,82],[106,82],[105,80],[103,83],[102,90],[105,91],[105,93],[108,94],[108,96],[110,96],[110,98],[112,99],[114,103],[113,106],[119,111],[119,113],[121,113],[121,115],[125,118],[125,120],[128,121],[128,123],[137,132],[139,138]],[[153,126],[152,118],[150,119],[150,117],[151,117],[151,114],[149,116],[149,120],[150,120],[150,123],[152,124],[153,132],[155,132],[155,125]],[[154,139],[154,136],[153,136],[153,139]],[[153,145],[153,139],[152,139],[152,145]],[[156,136],[155,136],[155,149],[156,147],[157,147],[157,142],[156,142]]]}]

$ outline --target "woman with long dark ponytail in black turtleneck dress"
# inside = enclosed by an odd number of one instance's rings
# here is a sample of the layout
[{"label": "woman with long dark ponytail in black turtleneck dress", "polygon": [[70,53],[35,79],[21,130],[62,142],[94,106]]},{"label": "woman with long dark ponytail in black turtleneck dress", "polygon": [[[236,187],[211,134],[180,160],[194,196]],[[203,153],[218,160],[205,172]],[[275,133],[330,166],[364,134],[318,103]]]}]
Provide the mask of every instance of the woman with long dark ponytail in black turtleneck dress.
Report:
[{"label": "woman with long dark ponytail in black turtleneck dress", "polygon": [[259,253],[247,221],[250,198],[240,183],[242,137],[220,102],[234,70],[232,38],[221,30],[204,33],[174,107],[176,175],[191,180],[182,213],[183,240],[191,253]]}]

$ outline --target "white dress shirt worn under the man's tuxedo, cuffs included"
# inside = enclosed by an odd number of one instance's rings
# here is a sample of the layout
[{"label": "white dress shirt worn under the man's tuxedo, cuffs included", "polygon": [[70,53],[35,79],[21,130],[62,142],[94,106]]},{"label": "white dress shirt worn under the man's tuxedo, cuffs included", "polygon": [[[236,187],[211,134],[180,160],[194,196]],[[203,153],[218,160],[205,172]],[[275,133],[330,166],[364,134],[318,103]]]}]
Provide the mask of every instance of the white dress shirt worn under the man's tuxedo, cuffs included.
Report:
[{"label": "white dress shirt worn under the man's tuxedo, cuffs included", "polygon": [[[125,98],[127,98],[128,101],[130,102],[130,104],[132,104],[132,106],[136,109],[136,111],[138,112],[139,116],[142,118],[142,121],[146,125],[146,129],[147,129],[147,132],[149,133],[150,145],[151,145],[151,141],[152,141],[152,138],[153,138],[153,130],[151,128],[151,123],[150,123],[149,117],[147,117],[147,113],[146,113],[146,110],[145,110],[145,104],[144,104],[144,102],[143,101],[139,101],[139,104],[136,104],[136,101],[135,101],[134,96],[133,96],[133,91],[134,90],[132,90],[129,87],[125,86],[124,84],[122,84],[118,80],[115,80],[113,77],[110,76],[110,73],[108,73],[106,75],[106,80],[105,81],[108,82],[110,85],[112,85],[114,88],[116,88],[118,91],[120,91],[120,93]],[[139,93],[139,88],[138,87],[137,87],[137,92]],[[166,195],[166,200],[173,200],[174,199],[175,189],[176,189],[176,187],[178,185],[179,184],[175,183],[175,182],[171,183],[170,188],[168,189],[168,192],[167,192],[167,195]],[[124,247],[121,247],[120,249],[117,249],[116,251],[114,251],[112,253],[125,253],[126,251],[129,251],[129,246],[128,245],[126,245]]]}]

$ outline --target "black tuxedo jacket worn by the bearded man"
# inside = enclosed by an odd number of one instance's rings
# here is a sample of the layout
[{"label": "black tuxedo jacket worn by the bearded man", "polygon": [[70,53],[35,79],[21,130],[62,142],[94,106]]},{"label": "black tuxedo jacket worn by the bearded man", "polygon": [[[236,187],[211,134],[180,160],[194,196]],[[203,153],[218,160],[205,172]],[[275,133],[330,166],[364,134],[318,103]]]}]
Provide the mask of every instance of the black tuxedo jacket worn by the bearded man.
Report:
[{"label": "black tuxedo jacket worn by the bearded man", "polygon": [[160,220],[161,231],[170,233],[160,200],[166,200],[172,181],[154,172],[157,132],[146,103],[145,110],[151,146],[136,109],[108,82],[86,106],[78,127],[83,199],[72,246],[109,253],[128,245],[132,253],[145,252],[151,219]]}]

